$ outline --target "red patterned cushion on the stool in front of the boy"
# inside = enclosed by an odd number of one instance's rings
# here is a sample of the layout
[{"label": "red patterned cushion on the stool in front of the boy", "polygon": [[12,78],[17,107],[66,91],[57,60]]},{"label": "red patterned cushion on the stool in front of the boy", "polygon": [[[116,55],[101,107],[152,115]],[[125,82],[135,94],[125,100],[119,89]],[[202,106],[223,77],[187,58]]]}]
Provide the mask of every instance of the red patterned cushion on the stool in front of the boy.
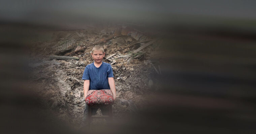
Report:
[{"label": "red patterned cushion on the stool in front of the boy", "polygon": [[85,100],[88,106],[111,105],[114,103],[113,94],[110,89],[89,90]]}]

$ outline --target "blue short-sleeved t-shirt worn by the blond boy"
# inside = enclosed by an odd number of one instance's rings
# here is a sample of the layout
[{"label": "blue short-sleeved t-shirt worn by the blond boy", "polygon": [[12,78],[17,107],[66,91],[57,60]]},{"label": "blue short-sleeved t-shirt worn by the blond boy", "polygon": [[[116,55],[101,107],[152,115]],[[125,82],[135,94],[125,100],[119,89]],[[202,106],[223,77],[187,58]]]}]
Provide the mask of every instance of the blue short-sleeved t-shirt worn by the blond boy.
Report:
[{"label": "blue short-sleeved t-shirt worn by the blond boy", "polygon": [[108,77],[114,77],[111,65],[102,62],[100,67],[95,67],[94,62],[85,67],[83,80],[90,80],[89,90],[110,89]]}]

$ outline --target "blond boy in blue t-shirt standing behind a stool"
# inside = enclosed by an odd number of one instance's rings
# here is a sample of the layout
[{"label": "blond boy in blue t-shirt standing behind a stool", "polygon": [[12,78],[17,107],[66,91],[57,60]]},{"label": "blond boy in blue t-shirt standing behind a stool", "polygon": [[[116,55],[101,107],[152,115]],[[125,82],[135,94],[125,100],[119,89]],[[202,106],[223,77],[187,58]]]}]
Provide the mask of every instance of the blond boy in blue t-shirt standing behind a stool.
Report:
[{"label": "blond boy in blue t-shirt standing behind a stool", "polygon": [[[82,79],[84,82],[84,95],[86,98],[86,94],[88,90],[100,90],[100,89],[110,89],[113,93],[113,98],[116,100],[116,87],[114,82],[113,70],[110,64],[102,61],[105,56],[104,49],[95,45],[92,49],[92,58],[94,62],[86,66]],[[92,109],[92,115],[95,115],[97,109]],[[103,115],[107,114],[107,110],[101,108],[101,112]],[[85,104],[84,111],[84,120],[81,124],[81,127],[88,126],[88,105]]]}]

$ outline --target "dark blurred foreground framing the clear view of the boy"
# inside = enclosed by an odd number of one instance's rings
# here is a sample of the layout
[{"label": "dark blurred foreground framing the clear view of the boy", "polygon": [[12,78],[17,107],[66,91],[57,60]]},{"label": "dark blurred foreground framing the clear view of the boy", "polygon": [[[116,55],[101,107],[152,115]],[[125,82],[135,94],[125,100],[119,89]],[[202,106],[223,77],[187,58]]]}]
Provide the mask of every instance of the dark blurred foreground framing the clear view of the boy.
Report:
[{"label": "dark blurred foreground framing the clear view of the boy", "polygon": [[[148,6],[154,7],[154,2],[149,3]],[[94,4],[97,7],[100,3]],[[163,5],[156,4],[158,8],[148,11],[155,13],[151,18],[144,11],[147,6],[142,4],[138,8],[143,9],[142,12],[128,5],[122,10],[126,13],[124,16],[111,12],[109,6],[105,6],[108,12],[101,16],[99,12],[104,8],[84,12],[78,10],[82,7],[75,8],[75,4],[73,7],[65,6],[63,3],[68,13],[56,9],[51,14],[46,8],[33,8],[26,11],[27,16],[11,18],[6,14],[12,12],[3,9],[6,16],[2,15],[0,21],[0,133],[88,132],[60,122],[41,104],[40,95],[33,92],[36,89],[29,88],[29,50],[33,47],[30,42],[40,38],[40,31],[83,29],[92,23],[116,23],[120,20],[142,25],[141,29],[163,39],[161,57],[157,59],[162,75],[153,76],[157,79],[155,86],[160,89],[154,95],[145,94],[148,106],[131,118],[113,122],[109,127],[105,126],[107,129],[99,126],[91,133],[255,133],[256,21],[253,16],[246,18],[236,16],[236,13],[229,18],[218,13],[200,16],[194,12],[189,14],[189,10],[185,15],[164,14],[160,12]],[[182,4],[178,5],[182,7]],[[195,8],[203,6],[198,4]],[[115,9],[119,11],[120,7]],[[94,17],[93,10],[98,11]],[[209,10],[214,11],[213,8]],[[233,9],[228,11],[230,13]],[[137,12],[138,15],[134,16],[137,19],[131,19],[131,13]],[[36,13],[40,14],[37,16]],[[141,18],[144,14],[146,17]],[[113,17],[115,15],[117,18]],[[24,21],[24,18],[28,20]],[[55,19],[58,20],[56,23]],[[155,19],[157,21],[153,21]]]}]

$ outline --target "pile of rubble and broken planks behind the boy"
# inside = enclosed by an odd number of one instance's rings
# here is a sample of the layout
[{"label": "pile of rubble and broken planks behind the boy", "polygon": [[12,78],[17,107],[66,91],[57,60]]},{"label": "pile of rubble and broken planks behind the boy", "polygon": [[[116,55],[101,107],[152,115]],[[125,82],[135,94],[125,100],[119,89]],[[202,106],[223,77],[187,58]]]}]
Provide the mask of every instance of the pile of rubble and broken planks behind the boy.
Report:
[{"label": "pile of rubble and broken planks behind the boy", "polygon": [[[45,106],[53,110],[60,120],[75,126],[79,126],[83,117],[82,76],[85,67],[93,62],[90,52],[94,45],[103,46],[103,61],[111,63],[113,68],[117,90],[114,118],[129,116],[142,108],[142,94],[155,88],[152,77],[160,75],[154,63],[159,58],[161,41],[131,26],[54,31],[51,41],[34,44],[30,54],[31,86],[37,86],[35,92],[44,98]],[[78,57],[79,60],[70,57]]]}]

